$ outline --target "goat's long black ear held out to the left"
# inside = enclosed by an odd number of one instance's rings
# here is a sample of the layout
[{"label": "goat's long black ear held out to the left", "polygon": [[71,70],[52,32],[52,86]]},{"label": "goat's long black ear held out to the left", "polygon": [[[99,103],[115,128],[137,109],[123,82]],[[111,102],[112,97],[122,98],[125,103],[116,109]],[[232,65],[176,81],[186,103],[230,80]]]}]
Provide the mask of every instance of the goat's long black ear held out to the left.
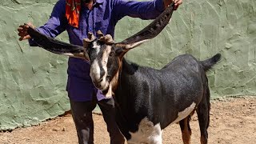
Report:
[{"label": "goat's long black ear held out to the left", "polygon": [[62,54],[75,58],[89,59],[86,49],[83,46],[71,45],[66,42],[58,41],[54,38],[50,38],[44,34],[38,32],[34,28],[28,28],[28,34],[33,38],[34,42],[38,46],[42,47],[45,50],[48,50],[54,54]]}]

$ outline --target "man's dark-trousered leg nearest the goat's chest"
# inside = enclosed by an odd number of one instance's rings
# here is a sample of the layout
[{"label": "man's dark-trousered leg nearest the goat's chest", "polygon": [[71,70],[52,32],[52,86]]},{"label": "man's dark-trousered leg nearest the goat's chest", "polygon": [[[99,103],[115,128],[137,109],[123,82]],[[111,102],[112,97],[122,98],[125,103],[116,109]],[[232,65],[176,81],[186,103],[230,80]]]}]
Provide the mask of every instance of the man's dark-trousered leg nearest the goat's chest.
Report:
[{"label": "man's dark-trousered leg nearest the goat's chest", "polygon": [[110,133],[110,143],[123,144],[125,142],[125,138],[118,129],[118,125],[115,121],[114,99],[111,98],[98,101],[98,106],[102,110],[107,131]]}]

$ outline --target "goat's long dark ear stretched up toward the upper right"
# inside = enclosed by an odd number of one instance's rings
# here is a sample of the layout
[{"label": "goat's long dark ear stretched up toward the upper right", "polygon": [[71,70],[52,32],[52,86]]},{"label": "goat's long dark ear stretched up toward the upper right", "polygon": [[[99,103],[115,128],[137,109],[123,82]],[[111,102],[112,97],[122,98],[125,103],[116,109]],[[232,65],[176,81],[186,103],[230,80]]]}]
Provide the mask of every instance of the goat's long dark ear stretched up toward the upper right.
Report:
[{"label": "goat's long dark ear stretched up toward the upper right", "polygon": [[174,2],[170,4],[170,6],[168,6],[166,10],[164,10],[162,14],[158,16],[158,18],[156,18],[153,22],[151,22],[149,26],[146,26],[143,30],[139,31],[137,34],[134,34],[130,38],[126,38],[126,40],[122,42],[118,42],[115,45],[118,47],[120,46],[125,50],[130,50],[136,46],[139,46],[143,42],[146,42],[151,38],[156,37],[170,21],[173,11],[174,11]]}]

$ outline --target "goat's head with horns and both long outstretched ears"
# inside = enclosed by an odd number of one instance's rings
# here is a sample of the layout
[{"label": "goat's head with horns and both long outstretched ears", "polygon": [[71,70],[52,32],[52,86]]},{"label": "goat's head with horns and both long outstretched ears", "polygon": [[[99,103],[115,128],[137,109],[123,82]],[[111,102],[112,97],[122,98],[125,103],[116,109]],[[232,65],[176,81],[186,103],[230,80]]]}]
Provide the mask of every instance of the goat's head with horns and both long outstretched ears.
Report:
[{"label": "goat's head with horns and both long outstretched ears", "polygon": [[118,73],[122,67],[122,58],[127,51],[139,46],[143,42],[156,37],[170,21],[174,5],[170,5],[162,14],[146,26],[143,30],[130,38],[114,43],[113,38],[98,31],[98,37],[88,34],[84,39],[84,46],[70,45],[46,37],[38,31],[30,28],[28,33],[38,46],[55,54],[64,54],[76,58],[84,58],[90,61],[90,78],[106,97],[113,94],[118,86]]}]

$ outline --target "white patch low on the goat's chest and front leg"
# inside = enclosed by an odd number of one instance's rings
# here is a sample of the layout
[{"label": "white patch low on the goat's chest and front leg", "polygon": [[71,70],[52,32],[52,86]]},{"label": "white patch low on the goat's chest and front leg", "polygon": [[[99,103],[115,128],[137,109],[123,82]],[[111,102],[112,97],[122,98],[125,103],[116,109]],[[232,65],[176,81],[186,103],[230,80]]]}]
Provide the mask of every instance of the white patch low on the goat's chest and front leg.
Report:
[{"label": "white patch low on the goat's chest and front leg", "polygon": [[162,144],[162,130],[160,123],[154,125],[148,118],[143,118],[138,125],[138,131],[135,133],[130,132],[131,138],[128,144],[150,143]]}]

